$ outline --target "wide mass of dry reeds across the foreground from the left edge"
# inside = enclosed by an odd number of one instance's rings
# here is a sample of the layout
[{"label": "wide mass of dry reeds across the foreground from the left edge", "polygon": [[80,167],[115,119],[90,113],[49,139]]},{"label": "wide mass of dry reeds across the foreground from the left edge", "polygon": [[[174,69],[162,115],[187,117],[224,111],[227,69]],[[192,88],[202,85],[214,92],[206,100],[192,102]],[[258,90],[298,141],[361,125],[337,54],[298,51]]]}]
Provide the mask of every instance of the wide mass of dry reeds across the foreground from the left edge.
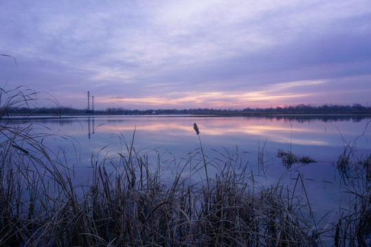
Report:
[{"label": "wide mass of dry reeds across the foreground from the left edge", "polygon": [[[264,188],[245,169],[237,171],[236,157],[222,162],[208,183],[201,178],[190,184],[188,176],[196,176],[207,162],[203,156],[199,163],[193,154],[178,164],[174,180],[164,182],[161,160],[149,163],[148,154],[137,152],[132,141],[116,158],[92,158],[93,176],[74,185],[71,168],[32,128],[11,132],[0,151],[1,246],[315,243],[311,224],[300,213],[306,205],[297,207],[284,185]],[[185,175],[188,166],[191,173]]]}]

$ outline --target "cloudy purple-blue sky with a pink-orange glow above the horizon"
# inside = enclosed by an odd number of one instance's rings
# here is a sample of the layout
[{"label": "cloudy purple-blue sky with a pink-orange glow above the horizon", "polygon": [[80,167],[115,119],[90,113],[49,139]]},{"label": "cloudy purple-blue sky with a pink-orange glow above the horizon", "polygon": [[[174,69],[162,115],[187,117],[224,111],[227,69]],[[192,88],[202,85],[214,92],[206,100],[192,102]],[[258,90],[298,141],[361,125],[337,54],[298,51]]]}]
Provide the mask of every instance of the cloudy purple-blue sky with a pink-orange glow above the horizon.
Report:
[{"label": "cloudy purple-blue sky with a pink-orange glow above the horizon", "polygon": [[0,1],[0,86],[95,109],[371,104],[370,0]]}]

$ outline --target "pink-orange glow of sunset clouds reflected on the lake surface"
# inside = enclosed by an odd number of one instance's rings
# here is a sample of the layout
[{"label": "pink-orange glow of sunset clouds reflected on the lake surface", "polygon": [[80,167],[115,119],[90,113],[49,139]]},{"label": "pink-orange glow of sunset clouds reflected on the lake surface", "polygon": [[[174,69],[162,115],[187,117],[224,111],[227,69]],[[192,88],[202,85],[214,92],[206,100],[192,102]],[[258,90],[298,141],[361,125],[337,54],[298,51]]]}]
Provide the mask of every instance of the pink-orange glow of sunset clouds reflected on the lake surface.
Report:
[{"label": "pink-orange glow of sunset clouds reflected on the lake surface", "polygon": [[[153,139],[179,139],[192,137],[194,118],[192,117],[123,117],[108,120],[95,128],[95,132],[112,134],[121,132],[133,133]],[[218,139],[246,139],[257,140],[269,138],[277,143],[293,143],[300,145],[327,145],[328,142],[321,137],[324,130],[318,129],[313,124],[289,124],[285,121],[262,121],[262,119],[240,117],[201,117],[197,119],[200,134],[203,137]],[[320,137],[320,138],[319,138]]]}]

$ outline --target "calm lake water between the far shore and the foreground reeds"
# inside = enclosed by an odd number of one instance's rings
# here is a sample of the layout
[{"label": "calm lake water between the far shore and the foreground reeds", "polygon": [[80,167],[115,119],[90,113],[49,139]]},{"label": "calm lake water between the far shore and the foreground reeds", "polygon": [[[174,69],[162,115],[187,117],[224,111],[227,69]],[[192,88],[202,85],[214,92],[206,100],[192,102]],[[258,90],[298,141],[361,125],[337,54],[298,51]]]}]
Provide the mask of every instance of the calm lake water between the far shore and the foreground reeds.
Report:
[{"label": "calm lake water between the far shore and the foreground reeds", "polygon": [[[239,169],[247,166],[249,172],[264,175],[259,179],[265,186],[284,178],[286,185],[292,187],[297,174],[302,174],[313,211],[317,215],[330,212],[324,224],[335,217],[339,205],[348,200],[347,195],[341,193],[339,173],[333,165],[344,145],[356,142],[357,156],[371,154],[371,126],[367,118],[95,116],[33,121],[40,132],[50,129],[56,133],[45,143],[54,150],[65,150],[66,162],[74,165],[76,174],[87,180],[92,170],[92,157],[98,163],[115,158],[117,153],[125,154],[125,143],[131,145],[132,141],[135,150],[148,154],[154,166],[160,155],[164,180],[171,180],[182,167],[183,158],[199,152],[199,138],[193,130],[196,123],[203,150],[210,160],[225,161],[225,156],[236,152],[240,156]],[[310,156],[317,163],[294,164],[287,169],[276,156],[278,149]],[[196,158],[201,160],[201,154]],[[212,173],[210,169],[209,176]]]}]

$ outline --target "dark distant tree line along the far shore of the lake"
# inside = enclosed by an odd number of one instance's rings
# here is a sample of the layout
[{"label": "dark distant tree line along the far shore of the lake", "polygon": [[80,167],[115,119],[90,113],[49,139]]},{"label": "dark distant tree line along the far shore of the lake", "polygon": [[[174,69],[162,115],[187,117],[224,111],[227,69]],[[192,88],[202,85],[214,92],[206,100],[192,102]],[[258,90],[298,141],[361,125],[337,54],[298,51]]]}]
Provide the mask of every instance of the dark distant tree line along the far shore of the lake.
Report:
[{"label": "dark distant tree line along the far shore of the lake", "polygon": [[[1,110],[1,109],[0,109]],[[106,108],[106,110],[77,109],[68,106],[50,108],[8,108],[9,115],[309,115],[309,114],[371,114],[371,107],[361,104],[349,105],[322,105],[310,106],[299,104],[297,106],[271,107],[271,108],[245,108],[245,109],[213,109],[190,108],[177,109],[149,109],[130,110],[126,108]]]}]

